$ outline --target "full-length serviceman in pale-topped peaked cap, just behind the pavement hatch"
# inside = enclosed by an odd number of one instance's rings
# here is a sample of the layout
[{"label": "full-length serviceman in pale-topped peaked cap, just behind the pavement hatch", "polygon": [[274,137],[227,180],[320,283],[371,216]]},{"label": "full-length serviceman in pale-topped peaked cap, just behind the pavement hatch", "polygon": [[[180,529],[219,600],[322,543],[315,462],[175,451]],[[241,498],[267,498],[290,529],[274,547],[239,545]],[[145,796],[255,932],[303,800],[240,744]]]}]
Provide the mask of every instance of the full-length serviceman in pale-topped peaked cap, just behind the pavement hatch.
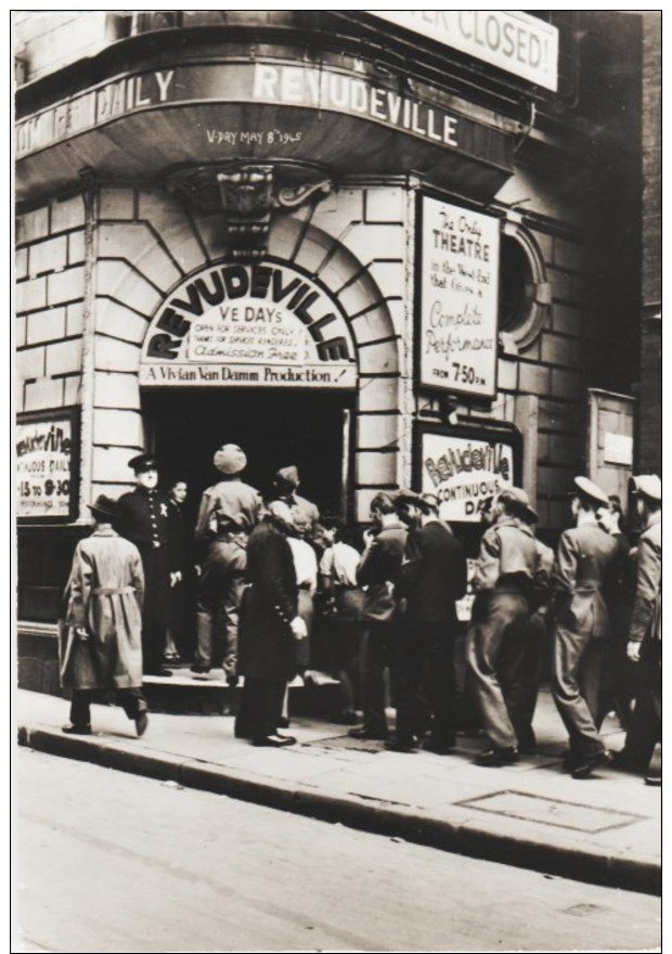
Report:
[{"label": "full-length serviceman in pale-topped peaked cap, just behind the pavement hatch", "polygon": [[574,478],[577,526],[559,540],[552,588],[555,616],[553,695],[569,733],[572,778],[587,778],[611,753],[598,731],[599,691],[610,624],[606,594],[618,569],[618,543],[598,524],[607,494],[587,477]]}]

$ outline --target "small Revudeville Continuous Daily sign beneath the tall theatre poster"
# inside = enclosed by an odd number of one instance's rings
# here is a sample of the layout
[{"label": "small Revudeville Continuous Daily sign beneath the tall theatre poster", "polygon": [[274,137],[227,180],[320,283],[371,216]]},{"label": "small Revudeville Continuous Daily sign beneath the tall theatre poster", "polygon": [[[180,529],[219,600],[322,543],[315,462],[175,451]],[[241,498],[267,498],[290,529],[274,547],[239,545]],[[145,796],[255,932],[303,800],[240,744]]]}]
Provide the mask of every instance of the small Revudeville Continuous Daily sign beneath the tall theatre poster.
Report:
[{"label": "small Revudeville Continuous Daily sign beneath the tall theatre poster", "polygon": [[514,482],[514,452],[506,443],[432,431],[421,441],[422,492],[439,498],[444,520],[480,520],[484,504]]}]

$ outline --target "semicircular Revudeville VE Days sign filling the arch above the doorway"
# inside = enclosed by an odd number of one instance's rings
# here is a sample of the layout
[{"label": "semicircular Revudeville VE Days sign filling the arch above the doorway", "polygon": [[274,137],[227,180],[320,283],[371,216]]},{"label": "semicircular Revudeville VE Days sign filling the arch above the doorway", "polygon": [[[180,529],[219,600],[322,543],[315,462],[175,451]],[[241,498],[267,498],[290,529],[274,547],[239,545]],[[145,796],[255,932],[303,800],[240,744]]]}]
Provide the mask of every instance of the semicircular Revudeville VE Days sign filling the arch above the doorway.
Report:
[{"label": "semicircular Revudeville VE Days sign filling the arch above the doorway", "polygon": [[140,383],[354,388],[345,318],[285,265],[221,265],[184,282],[145,336]]}]

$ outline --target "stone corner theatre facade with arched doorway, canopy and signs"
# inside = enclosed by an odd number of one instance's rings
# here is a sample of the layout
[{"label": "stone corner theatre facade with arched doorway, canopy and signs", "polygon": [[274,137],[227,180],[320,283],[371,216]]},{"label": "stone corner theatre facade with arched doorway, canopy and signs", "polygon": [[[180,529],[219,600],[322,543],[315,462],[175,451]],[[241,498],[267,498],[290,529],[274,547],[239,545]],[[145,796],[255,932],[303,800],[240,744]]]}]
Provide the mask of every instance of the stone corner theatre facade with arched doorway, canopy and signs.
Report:
[{"label": "stone corner theatre facade with arched doorway, canopy and signs", "polygon": [[576,474],[624,497],[625,16],[17,16],[20,618],[143,450],[197,501],[240,443],[352,524],[431,490],[471,549],[507,484],[551,542]]}]

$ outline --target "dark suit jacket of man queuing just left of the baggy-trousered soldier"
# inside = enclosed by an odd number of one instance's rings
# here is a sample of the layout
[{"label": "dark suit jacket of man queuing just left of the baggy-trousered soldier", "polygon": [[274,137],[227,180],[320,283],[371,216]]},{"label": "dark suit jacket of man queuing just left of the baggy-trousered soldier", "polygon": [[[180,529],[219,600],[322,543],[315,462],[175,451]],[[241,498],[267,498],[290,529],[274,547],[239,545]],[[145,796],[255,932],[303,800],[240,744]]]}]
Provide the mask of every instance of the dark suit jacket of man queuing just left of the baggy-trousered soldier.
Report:
[{"label": "dark suit jacket of man queuing just left of the baggy-trousered soldier", "polygon": [[440,520],[430,520],[409,533],[405,559],[397,593],[408,601],[406,614],[421,622],[456,623],[455,600],[467,585],[462,543]]}]

